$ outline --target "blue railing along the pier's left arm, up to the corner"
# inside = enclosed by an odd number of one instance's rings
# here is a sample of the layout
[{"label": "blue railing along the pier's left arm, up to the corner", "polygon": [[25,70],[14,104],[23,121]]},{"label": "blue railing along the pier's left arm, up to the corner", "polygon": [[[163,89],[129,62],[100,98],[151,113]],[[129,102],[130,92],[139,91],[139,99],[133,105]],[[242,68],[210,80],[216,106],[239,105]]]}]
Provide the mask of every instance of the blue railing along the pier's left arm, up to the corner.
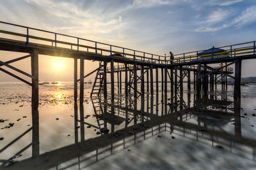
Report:
[{"label": "blue railing along the pier's left arm, up to the corner", "polygon": [[[44,31],[23,25],[11,24],[0,21],[0,39],[30,45],[44,46],[58,50],[90,53],[95,55],[110,55],[113,57],[142,62],[163,64],[166,57],[147,53],[122,46],[109,45],[90,39],[78,38],[57,32]],[[95,56],[97,57],[97,56]]]}]

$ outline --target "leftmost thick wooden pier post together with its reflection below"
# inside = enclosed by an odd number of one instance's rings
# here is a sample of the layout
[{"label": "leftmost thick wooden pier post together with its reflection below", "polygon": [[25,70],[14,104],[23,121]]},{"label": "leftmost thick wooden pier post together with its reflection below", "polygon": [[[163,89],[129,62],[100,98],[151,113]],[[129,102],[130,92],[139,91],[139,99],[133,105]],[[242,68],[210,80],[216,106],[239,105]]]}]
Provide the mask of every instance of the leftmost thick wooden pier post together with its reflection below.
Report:
[{"label": "leftmost thick wooden pier post together with its reflection below", "polygon": [[38,50],[31,53],[32,78],[32,157],[39,155],[39,115],[38,115]]}]

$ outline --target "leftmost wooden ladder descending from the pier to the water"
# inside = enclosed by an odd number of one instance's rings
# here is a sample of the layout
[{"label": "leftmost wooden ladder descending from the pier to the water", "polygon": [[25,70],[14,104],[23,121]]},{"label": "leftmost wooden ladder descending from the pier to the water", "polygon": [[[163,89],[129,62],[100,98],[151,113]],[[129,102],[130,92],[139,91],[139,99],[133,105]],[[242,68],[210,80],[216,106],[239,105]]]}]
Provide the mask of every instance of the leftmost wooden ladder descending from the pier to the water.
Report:
[{"label": "leftmost wooden ladder descending from the pier to the water", "polygon": [[[100,66],[102,66],[101,62],[100,62]],[[95,80],[92,87],[91,97],[99,96],[100,91],[103,88],[104,74],[102,74],[102,72],[103,72],[103,69],[98,69],[96,73]]]}]

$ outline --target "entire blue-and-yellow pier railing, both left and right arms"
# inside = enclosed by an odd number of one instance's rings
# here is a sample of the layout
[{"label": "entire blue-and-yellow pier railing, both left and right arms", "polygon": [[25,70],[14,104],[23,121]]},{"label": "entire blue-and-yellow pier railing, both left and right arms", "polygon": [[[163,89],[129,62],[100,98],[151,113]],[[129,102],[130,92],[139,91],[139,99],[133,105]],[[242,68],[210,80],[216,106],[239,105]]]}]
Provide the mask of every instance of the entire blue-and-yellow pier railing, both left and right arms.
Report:
[{"label": "entire blue-and-yellow pier railing, both left and right arms", "polygon": [[72,52],[82,52],[96,55],[109,55],[116,58],[124,58],[141,62],[156,64],[177,64],[183,62],[193,62],[200,60],[213,60],[227,57],[239,57],[242,55],[255,55],[255,42],[239,43],[236,45],[220,46],[221,52],[207,52],[200,55],[205,50],[195,52],[186,52],[173,55],[157,55],[147,53],[122,46],[100,43],[90,39],[69,36],[57,32],[44,31],[23,25],[11,24],[0,21],[0,40],[13,41],[15,43],[24,43],[28,45],[37,45],[47,48],[55,48],[56,50],[69,50]]}]

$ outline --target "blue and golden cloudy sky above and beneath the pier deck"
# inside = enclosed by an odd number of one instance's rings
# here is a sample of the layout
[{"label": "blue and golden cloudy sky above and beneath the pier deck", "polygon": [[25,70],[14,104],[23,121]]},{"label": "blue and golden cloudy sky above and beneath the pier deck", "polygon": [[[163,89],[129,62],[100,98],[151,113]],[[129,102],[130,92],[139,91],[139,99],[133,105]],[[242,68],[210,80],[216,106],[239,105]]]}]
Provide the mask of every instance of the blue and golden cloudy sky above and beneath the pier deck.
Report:
[{"label": "blue and golden cloudy sky above and beneath the pier deck", "polygon": [[[255,0],[1,0],[0,20],[159,55],[256,40]],[[0,51],[3,61],[22,55]],[[244,60],[242,76],[256,76],[255,64]],[[28,59],[13,66],[30,71]],[[85,73],[97,66],[86,61]],[[42,81],[73,80],[72,59],[40,56],[39,71]]]}]

